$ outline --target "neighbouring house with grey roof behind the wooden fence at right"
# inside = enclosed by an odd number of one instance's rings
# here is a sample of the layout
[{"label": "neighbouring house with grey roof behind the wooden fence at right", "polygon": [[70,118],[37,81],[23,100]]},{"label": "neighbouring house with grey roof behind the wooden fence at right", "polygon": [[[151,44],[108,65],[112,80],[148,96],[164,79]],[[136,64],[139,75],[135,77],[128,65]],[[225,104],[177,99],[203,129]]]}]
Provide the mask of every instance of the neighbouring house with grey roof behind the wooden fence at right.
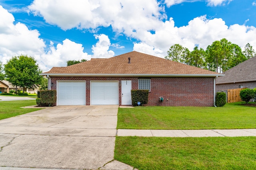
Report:
[{"label": "neighbouring house with grey roof behind the wooden fence at right", "polygon": [[256,56],[230,68],[225,76],[216,78],[216,90],[256,88],[255,68]]}]

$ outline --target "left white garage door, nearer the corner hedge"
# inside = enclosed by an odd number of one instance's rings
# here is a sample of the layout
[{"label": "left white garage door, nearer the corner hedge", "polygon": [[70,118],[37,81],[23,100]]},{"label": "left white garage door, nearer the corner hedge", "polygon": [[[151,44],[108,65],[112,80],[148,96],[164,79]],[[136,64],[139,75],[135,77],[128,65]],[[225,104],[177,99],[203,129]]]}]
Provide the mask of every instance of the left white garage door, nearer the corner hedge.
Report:
[{"label": "left white garage door, nearer the corner hedge", "polygon": [[85,82],[58,82],[58,105],[86,105]]}]

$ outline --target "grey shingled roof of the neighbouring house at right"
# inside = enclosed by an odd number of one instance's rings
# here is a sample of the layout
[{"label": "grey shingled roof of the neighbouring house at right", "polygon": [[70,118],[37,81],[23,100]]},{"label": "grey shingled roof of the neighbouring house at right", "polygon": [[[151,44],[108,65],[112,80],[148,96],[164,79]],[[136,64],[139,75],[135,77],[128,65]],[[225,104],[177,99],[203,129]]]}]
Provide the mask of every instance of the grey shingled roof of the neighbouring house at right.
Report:
[{"label": "grey shingled roof of the neighbouring house at right", "polygon": [[218,77],[216,84],[256,81],[255,68],[256,56],[224,72],[225,76]]}]

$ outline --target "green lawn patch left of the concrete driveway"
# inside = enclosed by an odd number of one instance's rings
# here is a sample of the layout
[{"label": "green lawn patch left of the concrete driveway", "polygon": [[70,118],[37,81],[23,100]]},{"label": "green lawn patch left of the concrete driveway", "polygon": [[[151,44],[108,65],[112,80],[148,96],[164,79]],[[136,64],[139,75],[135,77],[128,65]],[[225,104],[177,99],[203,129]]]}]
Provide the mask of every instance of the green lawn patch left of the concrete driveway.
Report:
[{"label": "green lawn patch left of the concrete driveway", "polygon": [[22,100],[22,101],[8,101],[0,102],[0,120],[6,119],[8,117],[14,117],[17,115],[22,115],[32,111],[37,111],[42,108],[36,109],[23,109],[20,107],[36,105],[36,100]]}]

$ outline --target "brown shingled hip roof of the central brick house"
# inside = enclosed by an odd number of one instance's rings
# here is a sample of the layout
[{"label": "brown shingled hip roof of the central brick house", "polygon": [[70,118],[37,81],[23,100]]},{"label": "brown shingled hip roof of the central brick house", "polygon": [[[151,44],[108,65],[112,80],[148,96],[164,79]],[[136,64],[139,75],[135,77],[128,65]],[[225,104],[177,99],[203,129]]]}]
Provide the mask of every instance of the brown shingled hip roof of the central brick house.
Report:
[{"label": "brown shingled hip roof of the central brick house", "polygon": [[[128,63],[130,57],[130,64]],[[66,67],[53,67],[41,75],[102,76],[223,76],[210,70],[132,51],[109,59],[91,59]]]}]

